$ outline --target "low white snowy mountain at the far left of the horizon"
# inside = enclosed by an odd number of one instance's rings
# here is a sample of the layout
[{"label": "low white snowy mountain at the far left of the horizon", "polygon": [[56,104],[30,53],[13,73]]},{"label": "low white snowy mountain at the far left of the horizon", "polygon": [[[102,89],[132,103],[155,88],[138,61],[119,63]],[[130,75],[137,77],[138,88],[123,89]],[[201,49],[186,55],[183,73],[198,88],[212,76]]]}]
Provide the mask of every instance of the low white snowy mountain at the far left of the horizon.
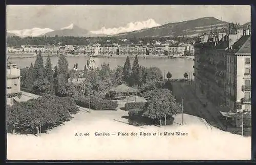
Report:
[{"label": "low white snowy mountain at the far left of the horizon", "polygon": [[54,30],[50,28],[44,28],[44,29],[32,28],[32,29],[24,29],[24,30],[13,30],[13,31],[7,31],[7,32],[19,37],[37,37],[53,31]]}]

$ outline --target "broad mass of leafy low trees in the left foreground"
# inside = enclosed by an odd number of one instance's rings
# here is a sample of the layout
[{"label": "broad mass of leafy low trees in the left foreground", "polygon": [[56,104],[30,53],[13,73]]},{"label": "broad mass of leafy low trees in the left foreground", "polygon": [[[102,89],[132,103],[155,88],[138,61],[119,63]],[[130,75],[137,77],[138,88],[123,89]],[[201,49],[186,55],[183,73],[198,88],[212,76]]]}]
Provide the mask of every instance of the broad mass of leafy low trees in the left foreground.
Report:
[{"label": "broad mass of leafy low trees in the left foreground", "polygon": [[71,98],[44,95],[9,106],[7,108],[7,126],[8,130],[18,128],[20,133],[35,133],[36,127],[40,126],[44,132],[70,120],[70,114],[75,114],[78,111],[75,101]]}]

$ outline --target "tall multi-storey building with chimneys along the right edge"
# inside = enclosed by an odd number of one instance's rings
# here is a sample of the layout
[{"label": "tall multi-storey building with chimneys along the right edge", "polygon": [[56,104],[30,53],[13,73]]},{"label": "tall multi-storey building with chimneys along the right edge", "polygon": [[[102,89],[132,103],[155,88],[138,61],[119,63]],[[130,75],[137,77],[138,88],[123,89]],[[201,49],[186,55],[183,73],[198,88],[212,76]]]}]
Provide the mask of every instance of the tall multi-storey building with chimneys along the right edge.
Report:
[{"label": "tall multi-storey building with chimneys along the right edge", "polygon": [[[251,113],[250,29],[228,24],[223,30],[200,37],[195,47],[196,91],[223,113]],[[233,118],[241,126],[241,118]],[[250,123],[247,123],[250,124]]]}]

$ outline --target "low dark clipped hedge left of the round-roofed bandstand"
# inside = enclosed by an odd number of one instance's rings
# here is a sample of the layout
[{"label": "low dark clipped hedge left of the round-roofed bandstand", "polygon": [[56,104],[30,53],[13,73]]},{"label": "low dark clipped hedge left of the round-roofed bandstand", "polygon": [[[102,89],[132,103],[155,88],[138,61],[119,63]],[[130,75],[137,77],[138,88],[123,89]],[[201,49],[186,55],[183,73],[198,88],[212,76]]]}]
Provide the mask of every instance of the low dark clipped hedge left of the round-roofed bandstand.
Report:
[{"label": "low dark clipped hedge left of the round-roofed bandstand", "polygon": [[[89,97],[76,97],[75,102],[78,106],[89,108]],[[117,101],[104,100],[95,96],[91,97],[91,108],[95,110],[115,110]]]}]

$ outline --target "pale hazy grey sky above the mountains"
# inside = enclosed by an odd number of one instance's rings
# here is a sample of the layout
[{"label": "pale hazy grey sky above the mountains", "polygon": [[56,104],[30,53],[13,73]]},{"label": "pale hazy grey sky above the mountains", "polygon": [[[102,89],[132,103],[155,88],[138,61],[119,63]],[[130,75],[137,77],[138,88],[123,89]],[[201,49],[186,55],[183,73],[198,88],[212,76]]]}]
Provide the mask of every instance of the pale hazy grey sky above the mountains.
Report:
[{"label": "pale hazy grey sky above the mountains", "polygon": [[58,30],[74,23],[94,31],[150,18],[162,25],[201,17],[244,24],[251,11],[249,5],[8,5],[7,30]]}]

